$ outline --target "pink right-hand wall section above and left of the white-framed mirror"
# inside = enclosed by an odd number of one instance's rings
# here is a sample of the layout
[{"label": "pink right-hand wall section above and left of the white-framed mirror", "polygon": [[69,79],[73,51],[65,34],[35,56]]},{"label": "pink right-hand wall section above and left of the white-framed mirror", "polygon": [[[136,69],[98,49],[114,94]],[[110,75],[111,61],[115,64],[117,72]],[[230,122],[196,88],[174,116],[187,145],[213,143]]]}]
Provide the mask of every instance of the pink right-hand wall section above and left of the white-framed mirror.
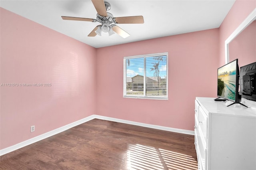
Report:
[{"label": "pink right-hand wall section above and left of the white-framed mirror", "polygon": [[[256,0],[236,0],[228,15],[220,26],[220,54],[219,54],[219,66],[225,64],[225,41],[236,30],[236,28],[244,21],[244,19],[256,8]],[[230,60],[232,61],[232,60]],[[239,63],[239,66],[243,66]],[[251,63],[243,61],[243,63]]]}]

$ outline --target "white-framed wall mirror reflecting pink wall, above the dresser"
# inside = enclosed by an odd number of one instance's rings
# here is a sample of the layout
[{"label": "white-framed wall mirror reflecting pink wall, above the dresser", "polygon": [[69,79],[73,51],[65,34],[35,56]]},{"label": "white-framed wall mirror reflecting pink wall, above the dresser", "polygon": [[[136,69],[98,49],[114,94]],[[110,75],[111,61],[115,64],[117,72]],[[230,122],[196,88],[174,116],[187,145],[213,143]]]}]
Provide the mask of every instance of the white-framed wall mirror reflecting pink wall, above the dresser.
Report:
[{"label": "white-framed wall mirror reflecting pink wall, above the dresser", "polygon": [[239,66],[256,61],[256,8],[225,41],[226,63],[238,58]]}]

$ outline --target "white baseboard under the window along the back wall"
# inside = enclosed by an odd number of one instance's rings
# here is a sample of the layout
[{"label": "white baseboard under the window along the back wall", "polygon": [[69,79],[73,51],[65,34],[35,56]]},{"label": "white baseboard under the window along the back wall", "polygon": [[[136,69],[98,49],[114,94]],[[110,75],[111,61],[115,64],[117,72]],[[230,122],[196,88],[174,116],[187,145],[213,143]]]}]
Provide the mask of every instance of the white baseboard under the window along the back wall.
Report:
[{"label": "white baseboard under the window along the back wall", "polygon": [[179,128],[170,128],[170,127],[163,127],[163,126],[158,126],[158,125],[150,125],[150,124],[146,124],[146,123],[126,121],[123,119],[116,119],[116,118],[105,117],[105,116],[100,116],[100,115],[95,115],[95,118],[101,119],[101,120],[106,120],[106,121],[118,122],[118,123],[126,123],[129,125],[136,125],[136,126],[140,126],[140,127],[154,128],[154,129],[158,129],[158,130],[166,130],[166,131],[170,131],[170,132],[194,135],[194,130],[184,130],[184,129],[179,129]]}]

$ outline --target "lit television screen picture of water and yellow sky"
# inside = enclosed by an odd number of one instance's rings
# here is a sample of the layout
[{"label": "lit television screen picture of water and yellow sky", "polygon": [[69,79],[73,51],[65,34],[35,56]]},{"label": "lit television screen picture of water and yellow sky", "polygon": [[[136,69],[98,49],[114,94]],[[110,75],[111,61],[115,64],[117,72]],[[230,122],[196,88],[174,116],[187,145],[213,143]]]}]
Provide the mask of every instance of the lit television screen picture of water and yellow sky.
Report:
[{"label": "lit television screen picture of water and yellow sky", "polygon": [[218,68],[218,97],[235,101],[237,60]]}]

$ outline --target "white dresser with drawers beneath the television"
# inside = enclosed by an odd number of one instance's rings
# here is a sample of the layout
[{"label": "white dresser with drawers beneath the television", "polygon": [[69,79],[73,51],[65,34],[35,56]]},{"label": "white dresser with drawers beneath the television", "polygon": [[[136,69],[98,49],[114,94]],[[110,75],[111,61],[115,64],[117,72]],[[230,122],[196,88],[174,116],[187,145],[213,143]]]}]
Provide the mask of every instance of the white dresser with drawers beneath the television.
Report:
[{"label": "white dresser with drawers beneath the television", "polygon": [[256,110],[196,97],[195,145],[200,170],[256,170]]}]

